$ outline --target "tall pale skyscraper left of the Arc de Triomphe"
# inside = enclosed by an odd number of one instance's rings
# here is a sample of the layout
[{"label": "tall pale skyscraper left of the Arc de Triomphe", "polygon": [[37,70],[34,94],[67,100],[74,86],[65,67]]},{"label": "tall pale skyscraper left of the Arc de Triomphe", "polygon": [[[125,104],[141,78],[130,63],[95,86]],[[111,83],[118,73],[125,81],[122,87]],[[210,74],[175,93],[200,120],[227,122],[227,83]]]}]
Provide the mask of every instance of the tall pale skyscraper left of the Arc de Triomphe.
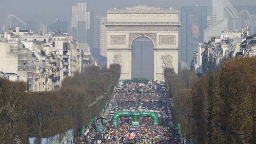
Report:
[{"label": "tall pale skyscraper left of the Arc de Triomphe", "polygon": [[86,3],[72,7],[71,31],[78,45],[85,52],[90,52],[90,12],[87,12]]}]

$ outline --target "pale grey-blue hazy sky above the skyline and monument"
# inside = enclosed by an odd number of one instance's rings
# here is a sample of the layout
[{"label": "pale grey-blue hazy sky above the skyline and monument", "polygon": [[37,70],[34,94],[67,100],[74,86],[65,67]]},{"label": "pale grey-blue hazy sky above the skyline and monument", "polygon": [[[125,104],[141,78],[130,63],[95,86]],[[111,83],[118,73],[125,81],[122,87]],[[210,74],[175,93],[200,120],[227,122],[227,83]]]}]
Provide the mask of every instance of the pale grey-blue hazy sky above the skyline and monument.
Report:
[{"label": "pale grey-blue hazy sky above the skyline and monument", "polygon": [[[135,5],[172,7],[180,9],[183,5],[206,5],[210,8],[211,0],[0,0],[0,25],[8,24],[8,14],[23,19],[36,20],[46,25],[61,20],[71,21],[71,7],[78,2],[86,2],[95,12],[106,13],[109,8],[123,8]],[[230,0],[233,5],[255,5],[256,0]],[[0,30],[0,31],[1,31]]]}]

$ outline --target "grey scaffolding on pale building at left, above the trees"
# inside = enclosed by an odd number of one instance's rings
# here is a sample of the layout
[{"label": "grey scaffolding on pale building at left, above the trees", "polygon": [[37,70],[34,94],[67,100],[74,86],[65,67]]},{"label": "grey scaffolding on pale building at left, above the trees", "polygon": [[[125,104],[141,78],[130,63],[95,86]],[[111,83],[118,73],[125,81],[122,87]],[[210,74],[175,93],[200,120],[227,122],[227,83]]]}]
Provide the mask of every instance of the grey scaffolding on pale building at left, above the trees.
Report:
[{"label": "grey scaffolding on pale building at left, above the trees", "polygon": [[18,71],[27,72],[28,91],[33,91],[33,52],[18,44]]}]

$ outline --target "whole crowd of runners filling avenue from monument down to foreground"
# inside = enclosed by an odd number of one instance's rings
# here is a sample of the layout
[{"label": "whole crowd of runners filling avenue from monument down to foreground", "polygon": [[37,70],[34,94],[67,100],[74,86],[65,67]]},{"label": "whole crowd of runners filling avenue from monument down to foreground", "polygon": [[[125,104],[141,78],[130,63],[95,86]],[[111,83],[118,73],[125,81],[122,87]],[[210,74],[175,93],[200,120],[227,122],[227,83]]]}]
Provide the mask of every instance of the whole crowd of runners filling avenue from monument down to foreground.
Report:
[{"label": "whole crowd of runners filling avenue from monument down to foreground", "polygon": [[[151,117],[140,117],[139,126],[132,126],[132,117],[120,118],[117,128],[112,125],[111,118],[106,133],[101,143],[170,143],[181,144],[183,139],[178,134],[178,128],[168,125],[169,115],[167,114],[168,95],[160,93],[161,86],[154,81],[149,83],[122,83],[115,89],[114,112],[130,108],[140,111],[137,107],[140,104],[146,110],[154,110],[159,116],[159,125],[153,125]],[[144,110],[145,110],[144,109]],[[135,131],[131,131],[135,128]],[[89,139],[95,132],[90,130],[87,136],[78,139],[77,144],[90,143]],[[134,137],[130,138],[129,135]]]}]

